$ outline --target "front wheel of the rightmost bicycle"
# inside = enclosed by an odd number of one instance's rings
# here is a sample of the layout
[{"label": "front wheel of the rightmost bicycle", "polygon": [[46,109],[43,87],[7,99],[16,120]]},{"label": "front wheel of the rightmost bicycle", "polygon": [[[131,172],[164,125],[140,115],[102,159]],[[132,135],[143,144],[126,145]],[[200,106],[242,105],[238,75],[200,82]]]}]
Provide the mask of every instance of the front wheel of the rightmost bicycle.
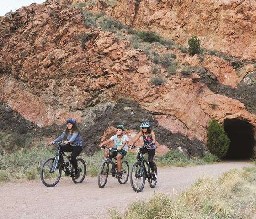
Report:
[{"label": "front wheel of the rightmost bicycle", "polygon": [[130,172],[130,183],[133,190],[137,193],[141,192],[145,185],[145,171],[140,162],[133,163]]}]

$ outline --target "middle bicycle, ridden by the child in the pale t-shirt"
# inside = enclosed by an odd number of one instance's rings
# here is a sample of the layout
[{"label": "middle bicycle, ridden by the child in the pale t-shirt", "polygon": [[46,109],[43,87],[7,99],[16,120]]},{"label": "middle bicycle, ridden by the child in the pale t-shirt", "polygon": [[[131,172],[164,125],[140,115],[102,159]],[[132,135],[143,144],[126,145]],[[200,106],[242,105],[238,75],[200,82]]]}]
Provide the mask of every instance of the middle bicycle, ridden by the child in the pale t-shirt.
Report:
[{"label": "middle bicycle, ridden by the child in the pale t-shirt", "polygon": [[[106,148],[107,148],[106,146],[102,146],[101,149],[106,149]],[[115,177],[115,175],[117,173],[117,162],[113,162],[113,160],[112,160],[112,158],[114,158],[114,157],[112,157],[110,155],[111,149],[114,149],[115,151],[117,151],[116,148],[110,147],[109,151],[108,151],[108,158],[105,158],[105,160],[101,163],[101,167],[98,172],[99,188],[103,188],[107,183],[107,178],[108,178],[108,174],[109,174],[109,164],[111,164],[110,173],[111,173],[112,177]],[[129,164],[127,161],[122,160],[121,165],[122,165],[122,169],[121,169],[122,178],[117,178],[117,179],[120,184],[125,184],[129,177]]]}]

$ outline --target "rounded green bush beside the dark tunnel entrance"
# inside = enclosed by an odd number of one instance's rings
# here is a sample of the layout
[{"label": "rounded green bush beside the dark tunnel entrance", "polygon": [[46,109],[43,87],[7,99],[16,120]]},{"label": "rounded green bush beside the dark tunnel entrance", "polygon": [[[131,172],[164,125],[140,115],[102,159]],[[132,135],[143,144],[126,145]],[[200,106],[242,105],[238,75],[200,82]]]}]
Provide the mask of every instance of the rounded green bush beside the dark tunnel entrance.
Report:
[{"label": "rounded green bush beside the dark tunnel entrance", "polygon": [[212,119],[207,131],[207,146],[211,153],[222,158],[226,155],[229,144],[230,140],[222,125]]}]

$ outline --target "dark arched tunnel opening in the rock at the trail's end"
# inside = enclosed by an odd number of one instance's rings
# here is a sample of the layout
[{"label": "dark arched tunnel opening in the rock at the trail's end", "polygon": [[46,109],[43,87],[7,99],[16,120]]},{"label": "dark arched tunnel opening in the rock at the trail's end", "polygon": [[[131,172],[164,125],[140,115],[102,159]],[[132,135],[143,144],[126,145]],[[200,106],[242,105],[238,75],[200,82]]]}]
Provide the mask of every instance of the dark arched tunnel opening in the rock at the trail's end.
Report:
[{"label": "dark arched tunnel opening in the rock at the trail's end", "polygon": [[253,157],[255,145],[253,126],[239,119],[225,119],[224,130],[230,139],[230,145],[224,159],[249,159]]}]

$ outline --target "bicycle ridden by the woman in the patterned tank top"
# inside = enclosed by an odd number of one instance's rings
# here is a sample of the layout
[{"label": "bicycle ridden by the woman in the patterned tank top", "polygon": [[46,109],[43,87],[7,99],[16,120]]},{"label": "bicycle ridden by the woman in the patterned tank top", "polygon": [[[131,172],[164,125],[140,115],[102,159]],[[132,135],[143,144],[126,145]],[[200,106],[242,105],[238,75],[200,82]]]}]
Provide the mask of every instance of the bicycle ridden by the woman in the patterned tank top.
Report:
[{"label": "bicycle ridden by the woman in the patterned tank top", "polygon": [[[131,168],[130,172],[130,183],[133,188],[133,190],[137,193],[141,192],[144,188],[145,181],[147,180],[149,182],[149,185],[151,188],[154,188],[157,181],[154,181],[154,178],[152,174],[150,173],[150,166],[149,162],[146,161],[144,156],[141,153],[141,148],[143,147],[137,147],[137,146],[130,146],[131,148],[136,148],[137,152],[139,153],[139,160],[133,163],[133,166]],[[147,164],[147,166],[145,165]],[[153,161],[155,166],[155,173],[157,174],[157,167],[155,162]],[[146,169],[146,167],[148,167]]]}]

